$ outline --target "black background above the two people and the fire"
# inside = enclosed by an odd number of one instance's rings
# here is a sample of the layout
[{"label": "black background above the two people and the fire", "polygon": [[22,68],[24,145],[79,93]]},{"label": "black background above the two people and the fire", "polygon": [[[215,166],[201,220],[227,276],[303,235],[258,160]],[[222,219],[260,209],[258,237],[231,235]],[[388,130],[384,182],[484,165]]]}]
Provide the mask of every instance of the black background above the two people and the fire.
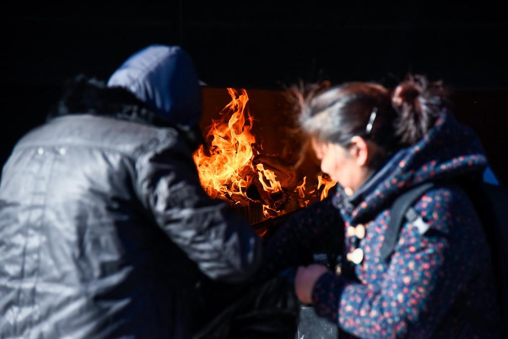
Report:
[{"label": "black background above the two people and the fire", "polygon": [[170,1],[16,5],[2,11],[0,162],[44,121],[63,80],[107,79],[152,43],[182,45],[212,87],[283,89],[303,81],[373,80],[407,73],[453,89],[459,120],[480,135],[508,182],[505,132],[508,24],[488,2],[297,3]]}]

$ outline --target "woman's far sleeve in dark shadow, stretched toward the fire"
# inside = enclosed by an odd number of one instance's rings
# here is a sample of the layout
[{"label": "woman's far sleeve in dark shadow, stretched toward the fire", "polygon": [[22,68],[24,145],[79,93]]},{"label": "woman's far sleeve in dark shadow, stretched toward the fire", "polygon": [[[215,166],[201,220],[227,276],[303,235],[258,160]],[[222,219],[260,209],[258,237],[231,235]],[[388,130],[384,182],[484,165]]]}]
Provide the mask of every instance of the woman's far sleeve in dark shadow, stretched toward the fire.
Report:
[{"label": "woman's far sleeve in dark shadow, stretched toward the fire", "polygon": [[312,254],[332,247],[341,253],[343,236],[340,213],[329,196],[296,213],[275,232],[263,251],[258,275],[270,278],[285,268],[307,264]]}]

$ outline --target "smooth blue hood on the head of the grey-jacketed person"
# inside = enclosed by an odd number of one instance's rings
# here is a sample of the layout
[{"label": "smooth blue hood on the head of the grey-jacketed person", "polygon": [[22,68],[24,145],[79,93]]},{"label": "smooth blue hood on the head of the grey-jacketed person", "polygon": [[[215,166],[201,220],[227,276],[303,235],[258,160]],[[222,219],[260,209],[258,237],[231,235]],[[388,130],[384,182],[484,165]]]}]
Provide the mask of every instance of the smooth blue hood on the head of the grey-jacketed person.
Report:
[{"label": "smooth blue hood on the head of the grey-jacketed person", "polygon": [[178,46],[148,46],[127,59],[108,81],[133,93],[160,118],[195,127],[201,118],[201,92],[194,64]]}]

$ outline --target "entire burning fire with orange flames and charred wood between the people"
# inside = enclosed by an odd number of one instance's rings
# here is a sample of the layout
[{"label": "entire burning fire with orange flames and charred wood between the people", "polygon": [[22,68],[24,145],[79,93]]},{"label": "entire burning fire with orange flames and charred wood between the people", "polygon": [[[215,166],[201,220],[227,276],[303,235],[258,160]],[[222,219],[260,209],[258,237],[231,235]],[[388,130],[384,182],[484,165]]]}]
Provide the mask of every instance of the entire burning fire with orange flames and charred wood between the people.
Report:
[{"label": "entire burning fire with orange flames and charred wood between the people", "polygon": [[[235,208],[258,207],[264,218],[308,206],[319,193],[324,199],[335,182],[319,175],[312,190],[307,191],[306,177],[298,180],[291,165],[276,156],[261,154],[263,147],[251,132],[254,118],[247,108],[247,92],[228,88],[228,93],[231,102],[219,119],[212,120],[207,146],[194,153],[208,195],[226,200]],[[297,186],[298,182],[301,184]]]}]

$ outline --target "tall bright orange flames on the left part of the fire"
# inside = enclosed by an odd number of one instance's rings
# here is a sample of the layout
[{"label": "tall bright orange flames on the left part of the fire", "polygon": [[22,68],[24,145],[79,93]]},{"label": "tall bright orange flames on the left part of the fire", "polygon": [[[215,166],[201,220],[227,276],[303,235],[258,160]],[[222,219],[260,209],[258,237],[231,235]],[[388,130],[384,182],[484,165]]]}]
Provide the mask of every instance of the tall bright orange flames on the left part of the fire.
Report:
[{"label": "tall bright orange flames on the left part of the fire", "polygon": [[[247,92],[242,89],[238,93],[228,88],[228,93],[231,102],[220,112],[221,119],[212,120],[206,135],[206,139],[211,140],[211,146],[207,150],[201,146],[194,153],[194,161],[208,195],[248,206],[253,199],[247,196],[247,189],[253,180],[259,179],[262,189],[268,194],[282,192],[282,186],[273,171],[262,163],[256,166],[252,163],[259,152],[252,147],[256,145],[256,138],[251,133],[253,117],[246,108],[249,100]],[[274,211],[274,207],[263,204],[265,217],[273,216]]]}]

